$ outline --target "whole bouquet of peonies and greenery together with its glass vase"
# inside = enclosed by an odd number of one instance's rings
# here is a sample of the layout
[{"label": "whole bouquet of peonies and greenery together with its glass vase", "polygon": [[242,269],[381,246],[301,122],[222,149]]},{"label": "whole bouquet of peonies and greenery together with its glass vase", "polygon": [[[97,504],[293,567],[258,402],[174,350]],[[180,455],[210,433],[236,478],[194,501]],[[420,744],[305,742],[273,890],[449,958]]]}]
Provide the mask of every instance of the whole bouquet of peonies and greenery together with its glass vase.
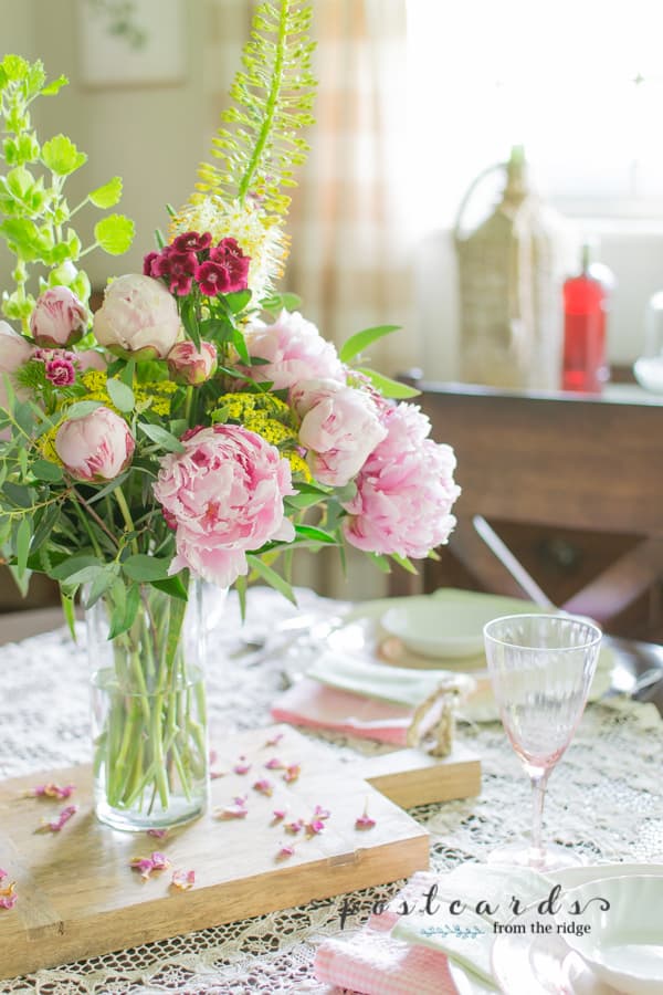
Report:
[{"label": "whole bouquet of peonies and greenery together with its glass vase", "polygon": [[[120,828],[204,808],[200,579],[242,606],[254,580],[294,600],[297,549],[349,543],[411,569],[454,523],[452,450],[410,388],[354,365],[393,326],[337,352],[274,290],[283,188],[307,148],[309,19],[293,0],[261,7],[215,164],[94,320],[63,195],[85,156],[62,135],[40,145],[29,114],[66,81],[0,64],[0,235],[17,260],[3,311],[20,323],[0,323],[0,543],[23,589],[33,570],[59,583],[72,630],[77,597],[86,609],[96,808]],[[120,192],[115,178],[80,207]],[[119,214],[95,228],[115,254],[131,237]]]}]

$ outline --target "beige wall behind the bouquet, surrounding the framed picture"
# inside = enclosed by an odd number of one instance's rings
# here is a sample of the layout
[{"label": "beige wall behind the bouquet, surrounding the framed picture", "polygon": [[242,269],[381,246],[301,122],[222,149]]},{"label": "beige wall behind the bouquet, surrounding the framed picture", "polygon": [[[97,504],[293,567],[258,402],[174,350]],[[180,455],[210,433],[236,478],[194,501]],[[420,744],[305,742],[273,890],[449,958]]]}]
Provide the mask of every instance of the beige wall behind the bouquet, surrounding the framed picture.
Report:
[{"label": "beige wall behind the bouquet, surrounding the framed picture", "polygon": [[[82,85],[78,73],[77,0],[0,0],[0,55],[39,56],[50,78],[61,73],[70,78],[57,97],[34,105],[42,140],[63,132],[88,155],[86,166],[67,182],[70,203],[75,205],[114,175],[125,182],[125,196],[116,210],[135,221],[136,241],[120,259],[96,251],[85,258],[85,269],[96,286],[103,286],[109,275],[140,272],[143,255],[154,248],[155,228],[167,226],[165,205],[177,206],[187,199],[196,167],[209,145],[200,59],[206,3],[186,0],[185,7],[187,70],[182,83],[92,90]],[[97,217],[94,209],[81,212],[76,230],[90,232]],[[8,263],[7,256],[0,259],[0,286],[7,285]]]}]

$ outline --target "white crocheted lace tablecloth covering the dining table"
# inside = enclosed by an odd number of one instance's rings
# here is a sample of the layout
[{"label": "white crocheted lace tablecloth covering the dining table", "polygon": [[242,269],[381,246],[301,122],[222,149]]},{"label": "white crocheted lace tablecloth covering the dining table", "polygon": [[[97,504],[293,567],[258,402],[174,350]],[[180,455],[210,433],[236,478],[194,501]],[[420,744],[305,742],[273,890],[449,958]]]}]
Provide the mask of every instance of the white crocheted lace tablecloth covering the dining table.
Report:
[{"label": "white crocheted lace tablecloth covering the dining table", "polygon": [[[232,599],[215,620],[210,618],[212,745],[233,730],[269,724],[270,704],[283,688],[283,659],[278,653],[265,657],[260,643],[295,609],[272,590],[255,589],[251,596],[243,635],[238,635],[241,630]],[[215,610],[211,600],[209,607],[210,612]],[[307,615],[329,616],[340,608],[339,603],[301,593],[299,611]],[[284,649],[286,638],[276,637],[277,648]],[[224,656],[222,649],[231,654],[223,666],[215,663]],[[306,647],[301,652],[305,657]],[[482,860],[505,838],[529,827],[529,787],[501,725],[465,726],[459,735],[471,741],[482,756],[483,789],[478,798],[412,810],[430,832],[434,870]],[[76,646],[60,630],[0,648],[0,778],[86,762],[88,739],[83,627]],[[329,748],[348,760],[356,755],[355,750],[380,748],[367,741],[326,739]],[[662,755],[663,722],[653,705],[612,698],[588,708],[552,775],[546,804],[548,835],[583,852],[590,862],[661,857]],[[365,921],[373,901],[389,899],[397,890],[398,884],[389,884],[355,894],[361,909],[356,922]],[[338,899],[316,901],[0,981],[0,993],[320,995],[329,989],[315,981],[313,956],[316,943],[338,931],[339,904]],[[350,919],[346,929],[351,924]]]}]

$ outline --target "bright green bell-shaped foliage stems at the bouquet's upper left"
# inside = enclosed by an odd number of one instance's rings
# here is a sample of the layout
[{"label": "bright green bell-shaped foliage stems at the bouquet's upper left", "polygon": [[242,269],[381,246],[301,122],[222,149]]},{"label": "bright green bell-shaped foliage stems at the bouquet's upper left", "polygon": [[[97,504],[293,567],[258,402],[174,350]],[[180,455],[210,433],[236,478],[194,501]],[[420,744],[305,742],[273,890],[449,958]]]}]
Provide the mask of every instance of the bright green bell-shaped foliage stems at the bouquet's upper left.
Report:
[{"label": "bright green bell-shaped foliage stems at the bouquet's upper left", "polygon": [[[15,256],[15,290],[2,294],[6,317],[28,328],[34,306],[30,290],[33,268],[45,268],[45,285],[64,284],[87,303],[90,281],[75,263],[94,248],[118,255],[134,238],[128,218],[113,214],[95,229],[95,242],[83,249],[72,228],[74,214],[86,203],[106,209],[122,197],[122,180],[114,177],[70,208],[64,196],[67,177],[87,161],[66,135],[55,135],[40,144],[32,126],[30,106],[40,96],[53,96],[67,83],[65,76],[46,84],[43,64],[29,63],[19,55],[0,62],[0,238]],[[43,279],[43,277],[42,277]]]}]

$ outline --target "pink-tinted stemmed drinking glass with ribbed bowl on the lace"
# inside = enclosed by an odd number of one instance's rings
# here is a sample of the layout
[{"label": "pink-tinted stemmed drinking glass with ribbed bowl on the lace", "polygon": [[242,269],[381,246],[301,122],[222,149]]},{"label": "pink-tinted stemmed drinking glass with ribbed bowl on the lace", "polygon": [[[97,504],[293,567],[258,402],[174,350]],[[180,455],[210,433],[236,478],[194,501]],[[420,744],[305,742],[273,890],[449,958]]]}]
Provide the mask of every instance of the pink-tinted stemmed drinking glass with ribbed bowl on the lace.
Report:
[{"label": "pink-tinted stemmed drinking glass with ribbed bowl on the lace", "polygon": [[514,615],[490,621],[484,642],[502,723],[534,796],[530,845],[509,844],[488,860],[541,871],[581,863],[564,847],[544,846],[541,824],[548,777],[585,710],[601,630],[570,615]]}]

